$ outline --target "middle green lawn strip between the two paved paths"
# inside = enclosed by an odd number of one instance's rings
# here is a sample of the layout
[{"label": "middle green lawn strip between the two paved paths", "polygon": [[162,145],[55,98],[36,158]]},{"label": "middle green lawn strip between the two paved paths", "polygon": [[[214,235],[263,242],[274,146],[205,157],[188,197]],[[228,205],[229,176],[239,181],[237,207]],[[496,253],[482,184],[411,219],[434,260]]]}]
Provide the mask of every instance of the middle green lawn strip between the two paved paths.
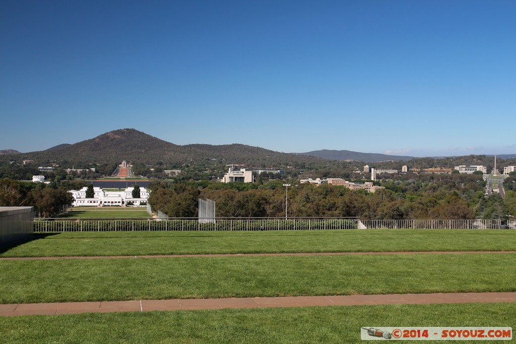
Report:
[{"label": "middle green lawn strip between the two paved paths", "polygon": [[516,291],[515,254],[0,261],[0,303]]}]

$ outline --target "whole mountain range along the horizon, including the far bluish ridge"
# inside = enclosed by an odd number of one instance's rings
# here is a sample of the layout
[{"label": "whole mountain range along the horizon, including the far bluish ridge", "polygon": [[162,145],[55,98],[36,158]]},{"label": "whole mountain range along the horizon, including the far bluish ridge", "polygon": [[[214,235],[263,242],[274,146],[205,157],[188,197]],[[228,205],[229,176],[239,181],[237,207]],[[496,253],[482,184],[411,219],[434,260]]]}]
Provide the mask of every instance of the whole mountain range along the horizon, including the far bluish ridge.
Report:
[{"label": "whole mountain range along the horizon, including the far bluish ridge", "polygon": [[[177,145],[132,128],[112,130],[92,139],[74,144],[63,143],[44,151],[20,153],[15,150],[4,150],[0,151],[0,156],[4,162],[14,160],[20,163],[21,160],[34,160],[39,164],[62,162],[67,165],[73,165],[74,163],[76,165],[100,165],[102,163],[120,163],[120,161],[126,160],[148,165],[156,163],[159,165],[162,162],[167,165],[181,166],[201,161],[217,160],[218,163],[243,163],[257,168],[293,165],[299,169],[303,169],[303,166],[308,167],[307,164],[328,160],[353,160],[365,163],[413,160],[410,163],[417,165],[418,161],[443,158],[420,158],[347,150],[283,153],[240,143]],[[498,155],[502,159],[515,156],[512,154]],[[472,162],[478,163],[475,159]]]}]

